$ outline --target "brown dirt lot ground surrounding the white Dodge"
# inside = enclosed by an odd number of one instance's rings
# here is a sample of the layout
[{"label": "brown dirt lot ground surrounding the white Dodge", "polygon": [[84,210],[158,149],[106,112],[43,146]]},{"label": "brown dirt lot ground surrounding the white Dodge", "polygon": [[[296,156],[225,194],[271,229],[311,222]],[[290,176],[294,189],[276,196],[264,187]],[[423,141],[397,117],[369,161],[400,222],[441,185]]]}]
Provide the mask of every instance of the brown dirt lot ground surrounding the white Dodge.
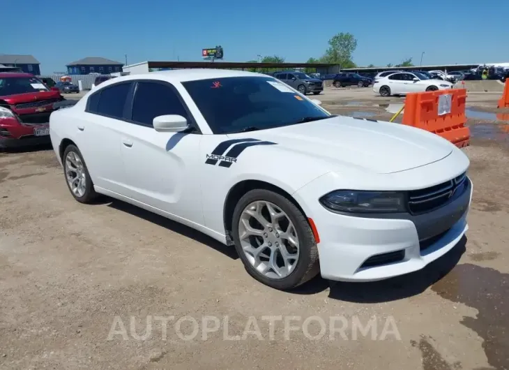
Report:
[{"label": "brown dirt lot ground surrounding the white Dodge", "polygon": [[[319,98],[383,119],[375,105],[401,102],[360,89]],[[489,94],[469,104],[494,111]],[[472,126],[464,149],[474,196],[453,251],[397,279],[317,278],[291,293],[189,228],[118,201],[75,202],[51,149],[0,154],[0,368],[509,369],[508,134],[470,123],[485,131]],[[290,320],[298,330],[285,333]],[[377,326],[361,335],[359,323]]]}]

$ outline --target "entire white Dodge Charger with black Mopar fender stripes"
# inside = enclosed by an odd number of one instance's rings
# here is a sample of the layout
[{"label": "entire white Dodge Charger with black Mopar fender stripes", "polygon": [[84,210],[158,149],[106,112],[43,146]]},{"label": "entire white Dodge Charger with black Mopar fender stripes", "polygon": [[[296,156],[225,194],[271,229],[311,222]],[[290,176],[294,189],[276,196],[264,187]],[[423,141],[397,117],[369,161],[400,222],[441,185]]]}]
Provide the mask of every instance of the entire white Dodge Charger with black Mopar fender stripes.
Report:
[{"label": "entire white Dodge Charger with black Mopar fender stripes", "polygon": [[268,75],[118,77],[52,113],[50,135],[77,201],[108,195],[234,245],[249,274],[278,289],[318,272],[407,274],[468,228],[461,150],[417,128],[335,116]]}]

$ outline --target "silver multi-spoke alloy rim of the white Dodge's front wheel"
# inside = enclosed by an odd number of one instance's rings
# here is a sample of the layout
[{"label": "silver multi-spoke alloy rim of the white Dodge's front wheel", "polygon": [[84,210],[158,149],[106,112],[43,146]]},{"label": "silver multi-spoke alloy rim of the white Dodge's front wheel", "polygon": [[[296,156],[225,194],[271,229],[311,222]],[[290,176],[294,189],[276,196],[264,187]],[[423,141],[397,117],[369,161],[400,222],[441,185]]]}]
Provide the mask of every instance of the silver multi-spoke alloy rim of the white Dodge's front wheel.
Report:
[{"label": "silver multi-spoke alloy rim of the white Dodge's front wheel", "polygon": [[296,228],[272,202],[257,200],[245,207],[238,221],[238,238],[259,274],[283,279],[294,271],[300,252]]}]

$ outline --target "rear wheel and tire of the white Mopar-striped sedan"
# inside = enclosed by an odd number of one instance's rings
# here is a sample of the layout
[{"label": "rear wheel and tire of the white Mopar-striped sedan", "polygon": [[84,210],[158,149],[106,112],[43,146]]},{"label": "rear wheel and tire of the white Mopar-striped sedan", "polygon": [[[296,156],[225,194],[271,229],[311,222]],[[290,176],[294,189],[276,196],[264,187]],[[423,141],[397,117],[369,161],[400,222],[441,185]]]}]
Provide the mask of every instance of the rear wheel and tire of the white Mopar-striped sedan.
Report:
[{"label": "rear wheel and tire of the white Mopar-striped sedan", "polygon": [[62,159],[66,183],[75,200],[89,203],[96,199],[98,195],[93,189],[89,170],[79,149],[75,145],[68,145]]}]

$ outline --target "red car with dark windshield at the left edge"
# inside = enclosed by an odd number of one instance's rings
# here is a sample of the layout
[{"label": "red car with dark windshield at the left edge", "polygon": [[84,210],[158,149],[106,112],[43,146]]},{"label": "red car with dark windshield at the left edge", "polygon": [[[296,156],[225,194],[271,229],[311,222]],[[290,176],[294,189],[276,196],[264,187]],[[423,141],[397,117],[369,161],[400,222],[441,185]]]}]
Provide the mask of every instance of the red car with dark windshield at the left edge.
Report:
[{"label": "red car with dark windshield at the left edge", "polygon": [[50,143],[53,103],[63,100],[30,73],[0,73],[0,148]]}]

